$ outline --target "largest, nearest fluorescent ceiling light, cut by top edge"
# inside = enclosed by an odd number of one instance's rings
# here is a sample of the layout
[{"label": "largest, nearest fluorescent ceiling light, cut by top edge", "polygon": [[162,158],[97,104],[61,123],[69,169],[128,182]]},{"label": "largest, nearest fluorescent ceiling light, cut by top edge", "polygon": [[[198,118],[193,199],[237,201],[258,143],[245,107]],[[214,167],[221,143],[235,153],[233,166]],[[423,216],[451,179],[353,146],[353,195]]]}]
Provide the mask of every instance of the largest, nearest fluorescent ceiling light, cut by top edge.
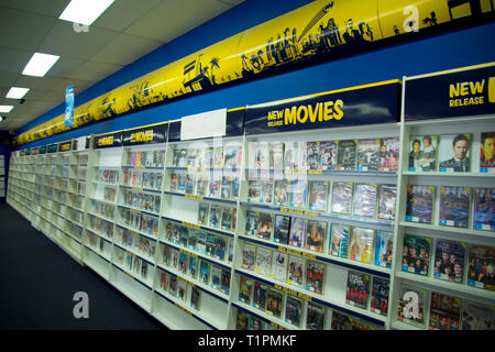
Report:
[{"label": "largest, nearest fluorescent ceiling light, cut by top edge", "polygon": [[72,0],[58,16],[61,20],[90,25],[114,0]]}]

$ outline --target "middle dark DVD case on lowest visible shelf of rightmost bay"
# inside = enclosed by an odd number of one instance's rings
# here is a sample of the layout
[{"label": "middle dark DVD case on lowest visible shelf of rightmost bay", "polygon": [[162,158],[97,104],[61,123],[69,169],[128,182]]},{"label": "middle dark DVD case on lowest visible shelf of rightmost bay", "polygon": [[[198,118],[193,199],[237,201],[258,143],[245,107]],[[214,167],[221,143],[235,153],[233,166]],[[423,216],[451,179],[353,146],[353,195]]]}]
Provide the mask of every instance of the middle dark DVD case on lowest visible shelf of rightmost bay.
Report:
[{"label": "middle dark DVD case on lowest visible shelf of rightmost bay", "polygon": [[431,293],[430,330],[460,330],[462,300],[449,295]]}]

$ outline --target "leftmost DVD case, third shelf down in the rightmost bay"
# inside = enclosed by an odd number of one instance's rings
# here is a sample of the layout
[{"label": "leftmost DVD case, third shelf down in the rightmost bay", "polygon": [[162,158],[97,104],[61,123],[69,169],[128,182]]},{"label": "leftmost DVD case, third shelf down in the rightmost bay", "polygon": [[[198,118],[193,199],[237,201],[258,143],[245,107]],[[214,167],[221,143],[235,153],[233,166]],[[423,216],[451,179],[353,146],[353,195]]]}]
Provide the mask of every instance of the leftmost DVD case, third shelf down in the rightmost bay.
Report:
[{"label": "leftmost DVD case, third shelf down in the rightmost bay", "polygon": [[428,276],[431,239],[418,235],[404,235],[403,272]]}]

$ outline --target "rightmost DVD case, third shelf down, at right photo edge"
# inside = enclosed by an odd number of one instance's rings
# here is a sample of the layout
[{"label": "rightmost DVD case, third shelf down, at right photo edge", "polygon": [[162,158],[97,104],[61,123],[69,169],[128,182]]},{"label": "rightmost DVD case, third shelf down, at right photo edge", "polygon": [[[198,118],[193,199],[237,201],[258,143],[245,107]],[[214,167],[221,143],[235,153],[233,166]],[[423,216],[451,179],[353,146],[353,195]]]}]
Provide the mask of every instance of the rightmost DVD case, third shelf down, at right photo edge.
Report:
[{"label": "rightmost DVD case, third shelf down, at right photo edge", "polygon": [[468,285],[495,290],[495,248],[471,245],[468,265]]}]

